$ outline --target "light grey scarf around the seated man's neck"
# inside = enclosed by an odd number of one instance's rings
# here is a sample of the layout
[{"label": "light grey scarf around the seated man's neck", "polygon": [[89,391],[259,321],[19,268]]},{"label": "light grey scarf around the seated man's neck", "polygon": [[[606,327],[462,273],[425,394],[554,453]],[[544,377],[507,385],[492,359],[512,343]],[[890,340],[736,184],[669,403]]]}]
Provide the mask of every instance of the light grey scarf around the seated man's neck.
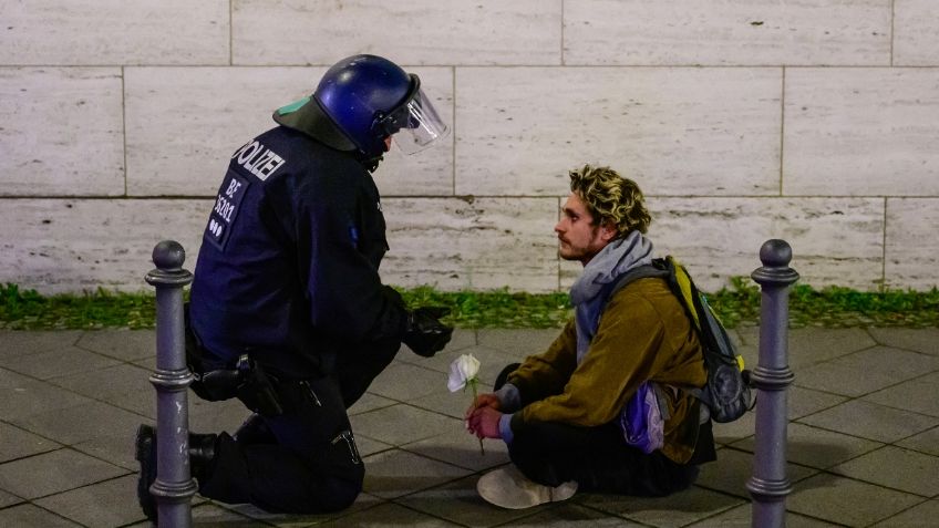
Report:
[{"label": "light grey scarf around the seated man's neck", "polygon": [[577,324],[577,364],[584,361],[606,303],[609,288],[618,277],[652,262],[652,242],[639,231],[619,238],[600,250],[570,287],[570,302]]}]

